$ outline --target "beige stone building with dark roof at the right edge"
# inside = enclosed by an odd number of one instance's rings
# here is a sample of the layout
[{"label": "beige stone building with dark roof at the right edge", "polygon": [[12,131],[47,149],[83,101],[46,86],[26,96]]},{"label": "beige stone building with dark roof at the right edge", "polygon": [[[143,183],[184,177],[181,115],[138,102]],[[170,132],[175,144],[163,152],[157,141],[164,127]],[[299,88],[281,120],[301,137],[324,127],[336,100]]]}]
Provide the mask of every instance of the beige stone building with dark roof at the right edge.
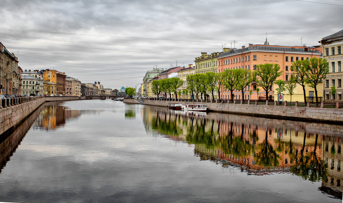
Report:
[{"label": "beige stone building with dark roof at the right edge", "polygon": [[[329,63],[329,74],[323,82],[324,101],[342,101],[343,54],[341,48],[343,47],[343,30],[323,37],[319,42],[323,47],[323,58]],[[336,88],[335,95],[331,94],[332,86]]]}]

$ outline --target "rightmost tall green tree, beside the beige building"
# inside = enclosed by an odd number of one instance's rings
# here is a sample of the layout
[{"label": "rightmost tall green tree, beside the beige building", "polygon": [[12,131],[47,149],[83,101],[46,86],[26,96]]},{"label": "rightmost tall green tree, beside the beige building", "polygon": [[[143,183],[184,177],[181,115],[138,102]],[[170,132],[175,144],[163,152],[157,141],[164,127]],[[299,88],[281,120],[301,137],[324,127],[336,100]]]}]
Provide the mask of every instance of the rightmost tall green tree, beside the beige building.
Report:
[{"label": "rightmost tall green tree, beside the beige building", "polygon": [[306,79],[305,82],[309,87],[315,89],[316,102],[318,104],[318,95],[317,95],[317,84],[319,84],[329,73],[329,64],[326,58],[316,58],[312,57],[310,60],[304,60],[303,66],[307,70],[305,72]]}]

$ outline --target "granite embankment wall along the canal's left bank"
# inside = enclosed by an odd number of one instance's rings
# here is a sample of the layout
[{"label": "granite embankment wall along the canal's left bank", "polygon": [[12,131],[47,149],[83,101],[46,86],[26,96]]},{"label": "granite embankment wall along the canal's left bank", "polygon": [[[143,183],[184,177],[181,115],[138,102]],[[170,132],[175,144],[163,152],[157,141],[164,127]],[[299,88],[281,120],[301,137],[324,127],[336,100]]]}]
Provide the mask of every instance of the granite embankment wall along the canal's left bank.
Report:
[{"label": "granite embankment wall along the canal's left bank", "polygon": [[[79,97],[26,97],[2,100],[0,109],[0,135],[12,131],[31,115],[40,105],[48,101],[80,100]],[[11,106],[9,106],[11,104]],[[3,106],[6,106],[3,108]]]}]

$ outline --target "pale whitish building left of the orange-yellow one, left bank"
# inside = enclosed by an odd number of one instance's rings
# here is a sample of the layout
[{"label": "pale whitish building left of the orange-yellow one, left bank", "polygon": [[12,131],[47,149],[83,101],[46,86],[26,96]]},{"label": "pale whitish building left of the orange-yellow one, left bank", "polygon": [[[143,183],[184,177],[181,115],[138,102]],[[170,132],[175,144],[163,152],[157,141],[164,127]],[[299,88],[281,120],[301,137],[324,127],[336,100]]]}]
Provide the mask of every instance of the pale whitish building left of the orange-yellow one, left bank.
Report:
[{"label": "pale whitish building left of the orange-yellow one, left bank", "polygon": [[30,95],[37,94],[38,96],[44,95],[43,79],[32,77],[29,75],[21,76],[21,94]]}]

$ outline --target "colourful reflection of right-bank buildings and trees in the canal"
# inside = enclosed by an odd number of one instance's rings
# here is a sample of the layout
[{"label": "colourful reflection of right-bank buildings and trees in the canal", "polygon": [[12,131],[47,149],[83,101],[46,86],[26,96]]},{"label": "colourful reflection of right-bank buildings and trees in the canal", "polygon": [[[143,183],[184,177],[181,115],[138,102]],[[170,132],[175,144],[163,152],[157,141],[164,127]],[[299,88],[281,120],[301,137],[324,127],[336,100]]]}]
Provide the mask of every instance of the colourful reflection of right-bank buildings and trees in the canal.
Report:
[{"label": "colourful reflection of right-bank buildings and trees in the canal", "polygon": [[342,198],[341,126],[219,113],[193,116],[150,106],[142,113],[146,129],[194,144],[201,160],[248,174],[292,172],[321,181],[321,190]]}]

